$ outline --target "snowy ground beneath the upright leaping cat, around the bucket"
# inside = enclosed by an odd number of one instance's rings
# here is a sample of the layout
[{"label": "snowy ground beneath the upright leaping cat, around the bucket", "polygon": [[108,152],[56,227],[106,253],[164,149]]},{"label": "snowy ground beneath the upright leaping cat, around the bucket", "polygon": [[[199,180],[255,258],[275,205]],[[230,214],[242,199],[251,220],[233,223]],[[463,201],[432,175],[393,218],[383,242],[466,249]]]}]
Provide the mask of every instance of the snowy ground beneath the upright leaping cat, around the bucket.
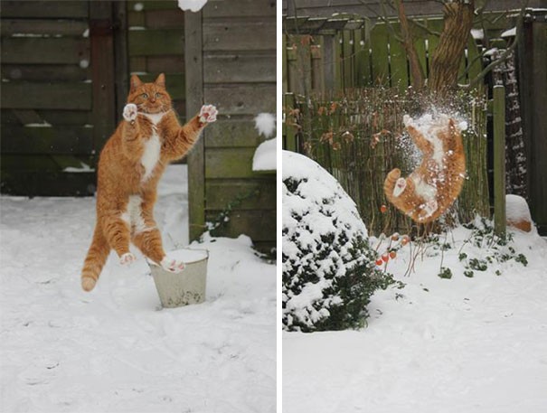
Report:
[{"label": "snowy ground beneath the upright leaping cat, around the bucket", "polygon": [[[166,249],[187,243],[185,166],[156,206]],[[276,271],[250,239],[207,239],[207,301],[164,309],[145,259],[111,256],[91,293],[80,268],[93,198],[1,197],[5,412],[274,412]]]}]

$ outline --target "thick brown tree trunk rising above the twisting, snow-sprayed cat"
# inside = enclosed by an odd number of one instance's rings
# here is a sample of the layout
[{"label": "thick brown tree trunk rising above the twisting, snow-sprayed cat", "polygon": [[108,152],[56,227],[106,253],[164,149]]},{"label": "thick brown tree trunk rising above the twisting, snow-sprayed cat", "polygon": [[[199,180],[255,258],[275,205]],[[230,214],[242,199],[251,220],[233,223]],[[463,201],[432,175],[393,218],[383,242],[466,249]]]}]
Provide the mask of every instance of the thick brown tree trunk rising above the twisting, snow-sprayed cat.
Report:
[{"label": "thick brown tree trunk rising above the twisting, snow-sprayed cat", "polygon": [[433,53],[429,89],[445,96],[457,86],[457,72],[473,25],[474,0],[445,4],[444,29]]}]

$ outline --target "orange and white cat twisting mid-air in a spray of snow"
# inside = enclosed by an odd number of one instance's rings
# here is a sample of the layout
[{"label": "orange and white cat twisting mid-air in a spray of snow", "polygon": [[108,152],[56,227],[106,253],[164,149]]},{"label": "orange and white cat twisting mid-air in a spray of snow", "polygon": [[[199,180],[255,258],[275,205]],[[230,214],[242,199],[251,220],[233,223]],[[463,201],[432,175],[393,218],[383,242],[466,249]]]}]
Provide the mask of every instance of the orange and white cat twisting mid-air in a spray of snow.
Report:
[{"label": "orange and white cat twisting mid-air in a spray of snow", "polygon": [[421,164],[406,179],[395,168],[383,192],[388,201],[419,223],[435,221],[456,200],[466,176],[466,157],[459,128],[452,118],[439,117],[420,131],[404,117],[410,137],[423,153]]}]

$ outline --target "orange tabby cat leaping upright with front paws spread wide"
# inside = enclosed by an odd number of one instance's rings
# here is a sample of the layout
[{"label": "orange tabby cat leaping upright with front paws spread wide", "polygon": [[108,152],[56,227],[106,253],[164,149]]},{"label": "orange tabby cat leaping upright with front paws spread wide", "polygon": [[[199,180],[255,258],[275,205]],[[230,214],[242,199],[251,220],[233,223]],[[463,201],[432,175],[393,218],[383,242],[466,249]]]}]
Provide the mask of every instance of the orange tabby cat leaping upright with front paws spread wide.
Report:
[{"label": "orange tabby cat leaping upright with front paws spread wide", "polygon": [[97,224],[81,271],[81,286],[93,289],[110,249],[121,264],[136,258],[132,241],[146,257],[172,272],[184,263],[165,256],[154,221],[156,186],[169,162],[183,157],[203,127],[216,120],[217,110],[203,106],[199,115],[181,127],[165,90],[165,76],[154,83],[131,77],[122,120],[102,149],[97,177]]}]

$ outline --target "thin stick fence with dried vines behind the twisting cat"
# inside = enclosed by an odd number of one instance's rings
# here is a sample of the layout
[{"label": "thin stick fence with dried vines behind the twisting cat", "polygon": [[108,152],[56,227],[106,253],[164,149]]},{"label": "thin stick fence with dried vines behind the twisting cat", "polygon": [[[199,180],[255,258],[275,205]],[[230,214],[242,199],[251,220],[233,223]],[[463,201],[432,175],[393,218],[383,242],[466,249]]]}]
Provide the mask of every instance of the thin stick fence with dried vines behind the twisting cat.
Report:
[{"label": "thin stick fence with dried vines behind the twisting cat", "polygon": [[[295,101],[290,103],[290,100]],[[420,160],[410,137],[404,133],[402,117],[414,114],[420,102],[398,89],[350,89],[343,95],[315,95],[303,99],[286,97],[286,127],[297,130],[297,141],[289,149],[302,152],[333,174],[357,203],[371,233],[409,232],[413,223],[386,201],[386,174],[400,167],[410,174]],[[293,105],[293,108],[290,108]],[[452,116],[465,119],[463,133],[467,157],[467,179],[453,208],[459,221],[476,214],[489,216],[486,166],[486,100],[477,92],[461,99]],[[287,145],[287,144],[286,144]],[[382,205],[388,208],[381,211]]]}]

